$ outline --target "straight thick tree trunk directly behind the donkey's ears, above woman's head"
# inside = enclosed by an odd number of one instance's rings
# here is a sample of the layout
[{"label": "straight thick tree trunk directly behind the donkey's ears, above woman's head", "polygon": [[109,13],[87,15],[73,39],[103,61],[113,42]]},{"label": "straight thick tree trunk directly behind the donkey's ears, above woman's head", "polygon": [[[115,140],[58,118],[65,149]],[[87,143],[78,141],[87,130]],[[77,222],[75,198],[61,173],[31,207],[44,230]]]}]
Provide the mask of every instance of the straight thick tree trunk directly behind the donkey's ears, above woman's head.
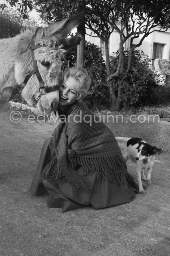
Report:
[{"label": "straight thick tree trunk directly behind the donkey's ears, above woman's head", "polygon": [[85,22],[77,28],[77,33],[81,38],[80,44],[77,46],[77,67],[84,68],[84,54],[85,54]]}]

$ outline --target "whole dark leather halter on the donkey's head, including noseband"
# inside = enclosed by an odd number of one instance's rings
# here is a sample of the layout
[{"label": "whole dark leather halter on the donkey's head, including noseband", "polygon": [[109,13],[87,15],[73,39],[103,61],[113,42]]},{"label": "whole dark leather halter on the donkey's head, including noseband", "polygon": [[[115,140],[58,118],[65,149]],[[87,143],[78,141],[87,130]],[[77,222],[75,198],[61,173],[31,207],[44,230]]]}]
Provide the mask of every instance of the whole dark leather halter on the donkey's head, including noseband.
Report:
[{"label": "whole dark leather halter on the donkey's head, including noseband", "polygon": [[[40,45],[40,44],[35,45],[35,40],[34,40],[34,39],[35,39],[36,33],[37,33],[37,31],[38,31],[39,29],[41,29],[41,27],[38,27],[38,28],[36,29],[35,33],[33,34],[32,38],[31,38],[31,56],[32,56],[33,70],[31,70],[30,73],[29,73],[29,74],[26,76],[26,78],[24,79],[24,83],[25,83],[25,85],[26,85],[26,84],[28,83],[28,80],[31,78],[31,76],[32,76],[33,74],[36,74],[36,77],[37,77],[37,79],[38,79],[38,81],[39,81],[39,84],[40,84],[40,88],[39,88],[40,94],[39,94],[39,96],[38,96],[36,102],[39,101],[40,97],[41,97],[43,94],[45,94],[45,93],[47,93],[47,92],[53,92],[53,91],[58,91],[58,90],[59,90],[59,86],[45,87],[45,86],[44,86],[45,83],[44,83],[44,81],[43,81],[43,79],[42,79],[42,77],[41,77],[41,75],[40,75],[39,70],[38,70],[37,61],[35,60],[35,57],[34,57],[34,50],[37,49],[37,48],[40,48],[41,45]],[[44,92],[41,92],[41,89],[44,89]]]}]

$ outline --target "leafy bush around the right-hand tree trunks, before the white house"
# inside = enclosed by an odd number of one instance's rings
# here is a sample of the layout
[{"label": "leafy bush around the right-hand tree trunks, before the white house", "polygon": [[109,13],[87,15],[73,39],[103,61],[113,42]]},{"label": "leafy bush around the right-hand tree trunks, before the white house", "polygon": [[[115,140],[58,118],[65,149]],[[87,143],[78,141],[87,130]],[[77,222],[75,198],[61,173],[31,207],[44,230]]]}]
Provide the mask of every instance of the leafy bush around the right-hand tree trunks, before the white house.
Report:
[{"label": "leafy bush around the right-hand tree trunks, before the white house", "polygon": [[[114,88],[121,86],[121,101],[124,107],[138,106],[141,104],[155,103],[154,91],[158,87],[155,74],[149,68],[149,58],[144,52],[135,50],[132,55],[132,65],[127,66],[129,51],[125,51],[123,74],[116,78]],[[119,51],[111,61],[111,72],[116,71]]]}]

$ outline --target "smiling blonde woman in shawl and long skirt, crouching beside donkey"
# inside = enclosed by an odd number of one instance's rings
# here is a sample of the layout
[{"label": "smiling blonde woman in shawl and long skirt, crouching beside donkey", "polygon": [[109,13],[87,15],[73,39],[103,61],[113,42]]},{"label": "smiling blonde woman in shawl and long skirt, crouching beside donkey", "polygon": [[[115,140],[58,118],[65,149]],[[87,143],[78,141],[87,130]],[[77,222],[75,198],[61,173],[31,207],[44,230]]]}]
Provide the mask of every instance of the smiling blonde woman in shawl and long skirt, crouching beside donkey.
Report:
[{"label": "smiling blonde woman in shawl and long skirt, crouching beside donkey", "polygon": [[74,67],[64,74],[60,122],[43,145],[30,187],[33,195],[48,194],[48,207],[62,212],[125,204],[138,189],[113,133],[82,102],[90,84],[85,69]]}]

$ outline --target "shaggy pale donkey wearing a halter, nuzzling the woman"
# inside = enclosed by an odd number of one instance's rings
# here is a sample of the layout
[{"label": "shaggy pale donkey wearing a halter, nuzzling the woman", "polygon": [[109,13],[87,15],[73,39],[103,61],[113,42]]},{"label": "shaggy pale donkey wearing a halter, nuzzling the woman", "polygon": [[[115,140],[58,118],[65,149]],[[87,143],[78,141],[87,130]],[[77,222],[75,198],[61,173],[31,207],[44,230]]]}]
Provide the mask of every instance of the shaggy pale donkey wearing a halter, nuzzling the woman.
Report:
[{"label": "shaggy pale donkey wearing a halter, nuzzling the woman", "polygon": [[73,15],[38,28],[35,34],[29,29],[14,38],[0,40],[0,111],[13,89],[24,83],[22,97],[30,106],[37,103],[45,114],[57,108],[62,58],[81,40],[78,36],[67,38],[67,34],[81,19],[81,15]]}]

